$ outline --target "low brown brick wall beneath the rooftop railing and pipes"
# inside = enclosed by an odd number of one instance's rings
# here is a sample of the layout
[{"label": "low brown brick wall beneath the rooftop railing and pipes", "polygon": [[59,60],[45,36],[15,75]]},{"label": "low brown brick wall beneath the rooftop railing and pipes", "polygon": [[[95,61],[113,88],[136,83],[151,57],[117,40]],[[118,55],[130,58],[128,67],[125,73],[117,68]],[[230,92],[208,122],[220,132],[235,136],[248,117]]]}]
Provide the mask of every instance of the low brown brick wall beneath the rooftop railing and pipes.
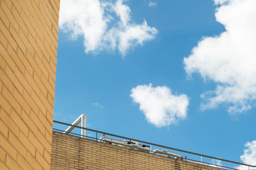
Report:
[{"label": "low brown brick wall beneath the rooftop railing and pipes", "polygon": [[125,149],[53,132],[51,169],[181,169],[216,168]]}]

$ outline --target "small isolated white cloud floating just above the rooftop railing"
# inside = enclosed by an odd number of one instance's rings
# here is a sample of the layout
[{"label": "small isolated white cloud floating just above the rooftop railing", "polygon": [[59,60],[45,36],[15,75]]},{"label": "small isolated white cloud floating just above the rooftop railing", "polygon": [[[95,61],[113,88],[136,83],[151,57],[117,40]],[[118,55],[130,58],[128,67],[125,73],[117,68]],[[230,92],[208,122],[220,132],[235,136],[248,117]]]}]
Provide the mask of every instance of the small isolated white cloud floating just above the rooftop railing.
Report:
[{"label": "small isolated white cloud floating just above the rooftop railing", "polygon": [[139,103],[139,109],[143,111],[146,120],[157,127],[186,118],[188,97],[185,94],[176,96],[171,94],[168,87],[153,87],[152,84],[137,86],[131,92],[130,96],[135,103]]}]

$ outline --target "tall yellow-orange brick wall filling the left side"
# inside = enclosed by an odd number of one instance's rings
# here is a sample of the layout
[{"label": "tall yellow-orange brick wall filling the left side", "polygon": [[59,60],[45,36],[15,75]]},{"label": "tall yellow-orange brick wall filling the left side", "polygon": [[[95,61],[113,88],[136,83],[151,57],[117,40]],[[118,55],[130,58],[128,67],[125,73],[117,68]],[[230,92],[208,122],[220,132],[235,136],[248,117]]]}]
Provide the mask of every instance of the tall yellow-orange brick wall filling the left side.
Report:
[{"label": "tall yellow-orange brick wall filling the left side", "polygon": [[60,0],[0,0],[0,169],[50,169]]}]

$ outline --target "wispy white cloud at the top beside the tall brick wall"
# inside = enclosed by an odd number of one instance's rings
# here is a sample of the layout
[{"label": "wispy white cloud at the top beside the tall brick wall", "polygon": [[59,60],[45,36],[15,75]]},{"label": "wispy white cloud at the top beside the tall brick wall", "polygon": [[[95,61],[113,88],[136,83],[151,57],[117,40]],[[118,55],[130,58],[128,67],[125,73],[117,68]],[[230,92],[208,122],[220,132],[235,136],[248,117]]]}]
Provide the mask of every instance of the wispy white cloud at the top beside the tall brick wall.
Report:
[{"label": "wispy white cloud at the top beside the tall brick wall", "polygon": [[83,37],[85,52],[127,50],[155,38],[156,28],[131,21],[129,6],[122,0],[62,0],[60,1],[60,30],[71,38]]}]

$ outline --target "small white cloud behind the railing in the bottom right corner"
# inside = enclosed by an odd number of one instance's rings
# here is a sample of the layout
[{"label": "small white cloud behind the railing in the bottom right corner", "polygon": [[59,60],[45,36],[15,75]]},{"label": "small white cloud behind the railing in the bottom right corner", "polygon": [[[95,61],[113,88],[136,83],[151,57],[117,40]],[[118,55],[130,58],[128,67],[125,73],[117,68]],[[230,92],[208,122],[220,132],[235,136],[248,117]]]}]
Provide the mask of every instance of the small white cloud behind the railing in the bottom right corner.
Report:
[{"label": "small white cloud behind the railing in the bottom right corner", "polygon": [[[256,140],[245,144],[244,154],[240,157],[244,164],[256,165]],[[248,169],[248,166],[238,166],[236,169]]]}]

